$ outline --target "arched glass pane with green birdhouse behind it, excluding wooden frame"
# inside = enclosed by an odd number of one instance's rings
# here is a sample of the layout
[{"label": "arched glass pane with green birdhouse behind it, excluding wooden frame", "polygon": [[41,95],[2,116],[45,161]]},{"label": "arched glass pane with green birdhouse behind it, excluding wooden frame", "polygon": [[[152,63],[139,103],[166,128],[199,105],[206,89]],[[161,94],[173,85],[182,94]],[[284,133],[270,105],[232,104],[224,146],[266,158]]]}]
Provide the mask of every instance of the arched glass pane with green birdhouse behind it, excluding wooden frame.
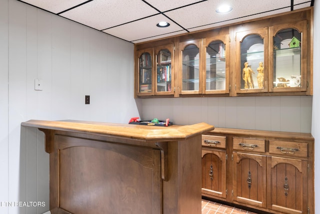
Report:
[{"label": "arched glass pane with green birdhouse behind it, excluding wooden frame", "polygon": [[288,28],[273,37],[273,88],[301,87],[301,33]]}]

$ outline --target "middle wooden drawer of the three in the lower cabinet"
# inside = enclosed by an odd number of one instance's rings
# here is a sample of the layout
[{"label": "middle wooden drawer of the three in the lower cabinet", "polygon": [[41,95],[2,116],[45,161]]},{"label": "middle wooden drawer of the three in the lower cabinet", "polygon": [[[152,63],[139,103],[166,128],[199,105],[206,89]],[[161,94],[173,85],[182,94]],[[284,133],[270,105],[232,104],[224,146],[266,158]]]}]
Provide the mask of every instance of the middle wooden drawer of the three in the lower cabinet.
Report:
[{"label": "middle wooden drawer of the three in the lower cabinet", "polygon": [[233,137],[233,149],[241,151],[265,151],[265,140],[254,138]]}]

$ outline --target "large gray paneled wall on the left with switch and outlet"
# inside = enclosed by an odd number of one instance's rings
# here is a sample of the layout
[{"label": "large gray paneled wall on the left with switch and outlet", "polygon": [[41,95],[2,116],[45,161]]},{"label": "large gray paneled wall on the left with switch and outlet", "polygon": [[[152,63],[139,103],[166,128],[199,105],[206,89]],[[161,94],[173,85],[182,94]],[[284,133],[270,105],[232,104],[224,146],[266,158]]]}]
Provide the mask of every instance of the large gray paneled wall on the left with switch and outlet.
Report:
[{"label": "large gray paneled wall on the left with switch and outlet", "polygon": [[[42,80],[41,91],[34,90],[35,79]],[[85,95],[90,95],[89,105]],[[133,44],[16,0],[0,0],[0,97],[0,201],[46,200],[43,133],[23,130],[20,123],[127,123],[139,116]],[[43,211],[0,205],[0,214]]]}]

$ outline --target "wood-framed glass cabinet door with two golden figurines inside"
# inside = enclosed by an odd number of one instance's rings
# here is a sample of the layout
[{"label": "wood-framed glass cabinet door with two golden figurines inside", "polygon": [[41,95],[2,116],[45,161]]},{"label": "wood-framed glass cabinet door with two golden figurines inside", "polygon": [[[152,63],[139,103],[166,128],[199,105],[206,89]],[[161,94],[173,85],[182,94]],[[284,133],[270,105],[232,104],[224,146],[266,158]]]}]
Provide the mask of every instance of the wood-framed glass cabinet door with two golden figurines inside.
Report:
[{"label": "wood-framed glass cabinet door with two golden figurines inside", "polygon": [[237,93],[267,92],[267,28],[236,34]]}]

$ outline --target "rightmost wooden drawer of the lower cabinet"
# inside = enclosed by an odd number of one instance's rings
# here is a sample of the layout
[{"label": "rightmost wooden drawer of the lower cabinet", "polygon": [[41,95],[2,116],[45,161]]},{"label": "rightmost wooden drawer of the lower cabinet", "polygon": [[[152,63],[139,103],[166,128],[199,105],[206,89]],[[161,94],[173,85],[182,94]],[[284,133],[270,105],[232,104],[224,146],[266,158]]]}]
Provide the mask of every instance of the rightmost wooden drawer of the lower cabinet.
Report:
[{"label": "rightmost wooden drawer of the lower cabinet", "polygon": [[307,157],[308,143],[282,140],[269,140],[269,153],[285,156]]}]

